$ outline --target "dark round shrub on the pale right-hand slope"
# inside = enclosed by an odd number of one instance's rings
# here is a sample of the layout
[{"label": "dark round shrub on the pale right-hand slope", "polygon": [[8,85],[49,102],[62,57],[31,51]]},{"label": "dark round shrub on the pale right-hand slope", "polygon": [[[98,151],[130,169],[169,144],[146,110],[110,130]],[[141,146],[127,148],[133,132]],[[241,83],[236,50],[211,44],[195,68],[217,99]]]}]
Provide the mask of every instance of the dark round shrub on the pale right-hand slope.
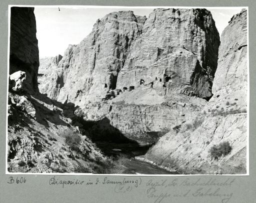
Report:
[{"label": "dark round shrub on the pale right-hand slope", "polygon": [[209,152],[210,156],[217,160],[220,156],[225,156],[232,150],[232,147],[230,146],[228,141],[223,141],[218,145],[213,145]]}]

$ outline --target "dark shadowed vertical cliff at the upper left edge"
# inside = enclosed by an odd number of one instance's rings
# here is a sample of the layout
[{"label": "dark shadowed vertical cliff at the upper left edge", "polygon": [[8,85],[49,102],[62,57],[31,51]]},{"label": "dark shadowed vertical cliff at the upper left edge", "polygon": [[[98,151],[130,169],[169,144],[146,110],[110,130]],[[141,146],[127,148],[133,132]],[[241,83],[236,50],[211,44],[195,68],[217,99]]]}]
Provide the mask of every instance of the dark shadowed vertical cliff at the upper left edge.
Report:
[{"label": "dark shadowed vertical cliff at the upper left edge", "polygon": [[33,10],[32,7],[11,7],[9,74],[24,71],[25,88],[37,91],[39,51]]}]

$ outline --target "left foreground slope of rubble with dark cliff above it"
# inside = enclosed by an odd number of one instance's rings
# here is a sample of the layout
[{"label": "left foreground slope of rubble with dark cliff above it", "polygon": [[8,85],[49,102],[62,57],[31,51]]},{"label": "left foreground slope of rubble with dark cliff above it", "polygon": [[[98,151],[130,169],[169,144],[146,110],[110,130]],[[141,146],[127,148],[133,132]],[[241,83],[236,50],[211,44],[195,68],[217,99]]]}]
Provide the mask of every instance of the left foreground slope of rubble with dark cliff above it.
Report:
[{"label": "left foreground slope of rubble with dark cliff above it", "polygon": [[39,93],[35,34],[33,8],[11,7],[8,171],[114,172],[115,164],[91,142],[88,133],[72,125],[77,122],[72,109],[63,109],[61,103]]}]

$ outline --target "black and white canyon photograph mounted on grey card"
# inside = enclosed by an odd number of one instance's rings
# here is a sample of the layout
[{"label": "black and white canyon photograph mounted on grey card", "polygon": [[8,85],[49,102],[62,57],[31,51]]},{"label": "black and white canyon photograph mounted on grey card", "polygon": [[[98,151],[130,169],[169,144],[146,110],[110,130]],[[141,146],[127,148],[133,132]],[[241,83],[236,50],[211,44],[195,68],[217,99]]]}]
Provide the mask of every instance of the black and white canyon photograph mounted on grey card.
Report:
[{"label": "black and white canyon photograph mounted on grey card", "polygon": [[248,175],[247,10],[9,5],[5,173]]}]

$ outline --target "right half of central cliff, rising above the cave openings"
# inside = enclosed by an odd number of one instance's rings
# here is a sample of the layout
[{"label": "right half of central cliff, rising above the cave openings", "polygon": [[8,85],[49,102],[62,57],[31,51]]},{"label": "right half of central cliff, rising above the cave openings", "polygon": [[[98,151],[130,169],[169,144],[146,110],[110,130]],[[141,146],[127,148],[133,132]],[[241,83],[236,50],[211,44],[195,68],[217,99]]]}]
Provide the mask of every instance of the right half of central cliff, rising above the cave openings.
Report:
[{"label": "right half of central cliff, rising above the cave openings", "polygon": [[134,40],[117,78],[117,88],[140,81],[166,93],[208,98],[217,66],[219,35],[206,9],[154,9]]}]

